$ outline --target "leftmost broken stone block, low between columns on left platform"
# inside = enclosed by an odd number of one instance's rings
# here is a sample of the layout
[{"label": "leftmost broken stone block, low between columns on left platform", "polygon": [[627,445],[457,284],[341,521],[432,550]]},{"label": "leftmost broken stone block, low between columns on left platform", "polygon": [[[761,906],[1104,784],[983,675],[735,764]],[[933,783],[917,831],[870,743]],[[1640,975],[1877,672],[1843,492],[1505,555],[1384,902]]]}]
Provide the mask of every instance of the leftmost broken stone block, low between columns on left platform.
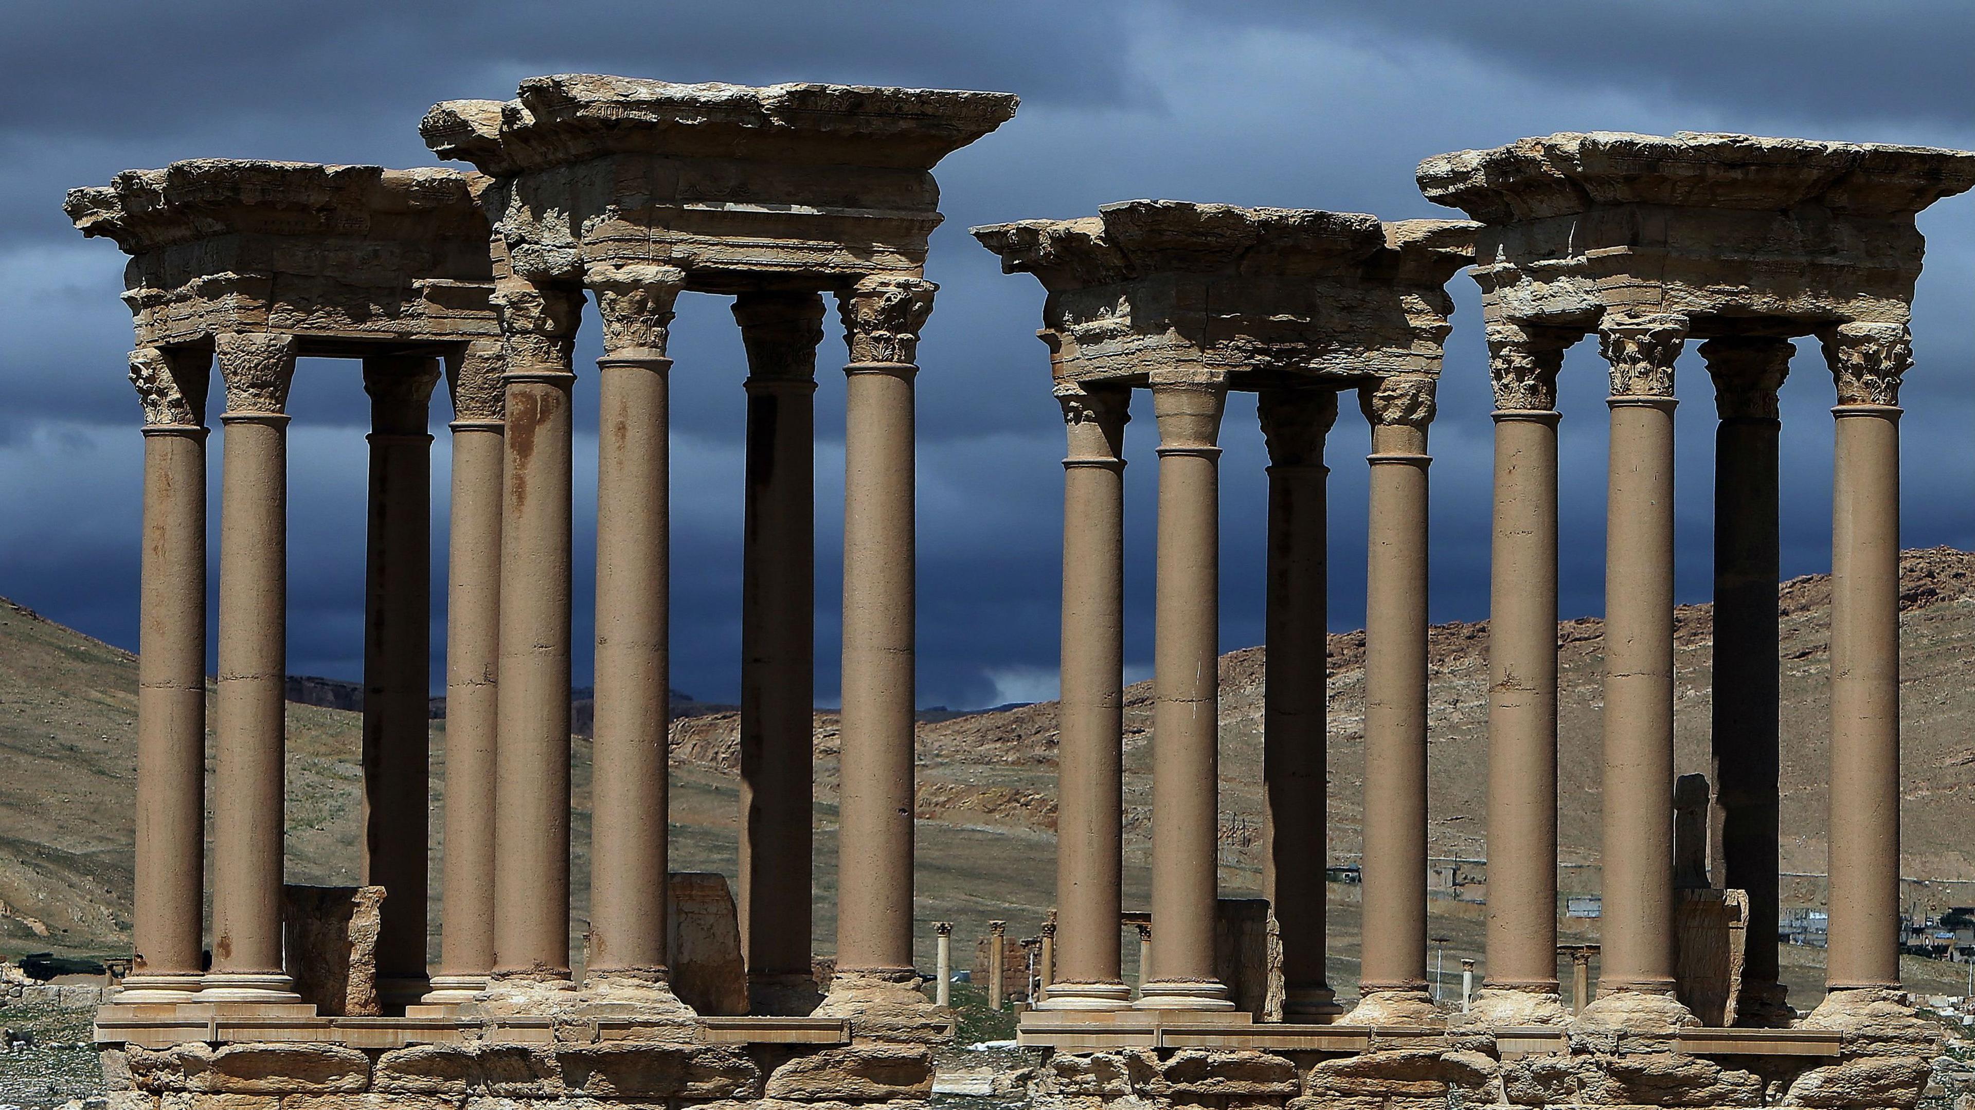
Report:
[{"label": "leftmost broken stone block, low between columns on left platform", "polygon": [[324,1017],[377,1017],[383,887],[282,887],[282,954],[294,991]]}]

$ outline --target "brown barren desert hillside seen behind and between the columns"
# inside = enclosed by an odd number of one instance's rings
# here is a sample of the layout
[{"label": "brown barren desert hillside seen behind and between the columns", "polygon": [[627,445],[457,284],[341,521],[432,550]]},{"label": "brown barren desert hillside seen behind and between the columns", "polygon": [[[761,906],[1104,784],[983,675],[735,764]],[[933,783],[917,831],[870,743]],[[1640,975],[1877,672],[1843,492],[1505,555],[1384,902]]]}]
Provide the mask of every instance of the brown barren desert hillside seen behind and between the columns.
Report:
[{"label": "brown barren desert hillside seen behind and between the columns", "polygon": [[[1783,845],[1785,901],[1821,901],[1825,830],[1825,719],[1829,579],[1781,589],[1783,614]],[[1708,770],[1710,606],[1677,616],[1677,745],[1681,772]],[[1331,634],[1331,859],[1351,863],[1363,814],[1363,632]],[[1562,885],[1598,891],[1602,622],[1558,626],[1562,689]],[[1965,835],[1975,788],[1975,555],[1953,549],[1902,557],[1908,903],[1975,905],[1975,853]],[[1223,885],[1252,891],[1260,877],[1262,648],[1223,656]],[[1487,624],[1432,630],[1432,849],[1448,861],[1485,855]],[[38,614],[0,602],[0,952],[128,950],[130,733],[136,662]],[[930,717],[930,715],[928,715]],[[1126,897],[1144,905],[1149,849],[1151,687],[1126,691]],[[818,883],[835,887],[837,721],[818,713]],[[442,745],[434,721],[434,768]],[[356,713],[288,707],[288,877],[350,883],[357,859]],[[922,721],[918,843],[922,922],[956,920],[976,936],[991,916],[1033,930],[1053,901],[1057,707]],[[705,713],[673,725],[673,867],[735,871],[737,717]],[[577,932],[587,903],[589,741],[577,741]],[[434,839],[440,830],[434,800]],[[434,895],[436,855],[434,851]],[[1465,867],[1469,873],[1473,865]],[[1333,982],[1355,982],[1355,887],[1333,885]],[[1479,954],[1477,889],[1436,891],[1434,934],[1448,966]],[[434,907],[436,922],[436,907]],[[1596,922],[1574,936],[1594,936]],[[818,950],[833,948],[822,909]],[[930,928],[922,928],[930,962]],[[1132,946],[1128,946],[1132,956]],[[1785,976],[1801,1001],[1819,952],[1793,950]],[[1916,962],[1916,986],[1947,990],[1959,968]],[[1936,980],[1939,980],[1936,984]]]}]

